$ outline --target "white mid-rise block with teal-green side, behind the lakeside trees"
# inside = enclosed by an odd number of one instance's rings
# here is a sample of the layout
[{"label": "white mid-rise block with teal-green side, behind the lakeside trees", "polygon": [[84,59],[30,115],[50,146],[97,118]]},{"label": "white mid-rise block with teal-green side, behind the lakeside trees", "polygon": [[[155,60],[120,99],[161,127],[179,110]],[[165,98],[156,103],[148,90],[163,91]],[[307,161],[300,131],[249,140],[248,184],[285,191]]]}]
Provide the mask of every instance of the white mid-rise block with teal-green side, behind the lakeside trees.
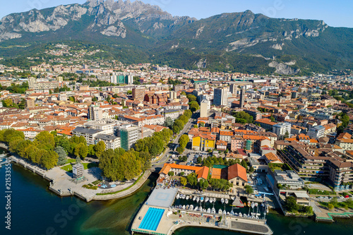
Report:
[{"label": "white mid-rise block with teal-green side, behind the lakeside trees", "polygon": [[124,124],[120,127],[120,145],[128,151],[137,140],[141,138],[140,128],[130,124]]}]

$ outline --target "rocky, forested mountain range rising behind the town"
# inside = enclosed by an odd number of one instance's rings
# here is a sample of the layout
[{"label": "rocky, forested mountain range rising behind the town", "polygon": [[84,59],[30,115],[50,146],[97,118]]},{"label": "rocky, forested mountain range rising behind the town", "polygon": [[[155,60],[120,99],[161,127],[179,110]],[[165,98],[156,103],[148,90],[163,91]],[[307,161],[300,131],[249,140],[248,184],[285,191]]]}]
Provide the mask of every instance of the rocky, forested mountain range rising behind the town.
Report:
[{"label": "rocky, forested mountain range rising behind the town", "polygon": [[88,0],[0,20],[5,61],[41,54],[57,42],[102,47],[102,56],[124,63],[210,71],[304,75],[353,68],[353,28],[333,28],[323,20],[251,11],[197,20],[129,0]]}]

